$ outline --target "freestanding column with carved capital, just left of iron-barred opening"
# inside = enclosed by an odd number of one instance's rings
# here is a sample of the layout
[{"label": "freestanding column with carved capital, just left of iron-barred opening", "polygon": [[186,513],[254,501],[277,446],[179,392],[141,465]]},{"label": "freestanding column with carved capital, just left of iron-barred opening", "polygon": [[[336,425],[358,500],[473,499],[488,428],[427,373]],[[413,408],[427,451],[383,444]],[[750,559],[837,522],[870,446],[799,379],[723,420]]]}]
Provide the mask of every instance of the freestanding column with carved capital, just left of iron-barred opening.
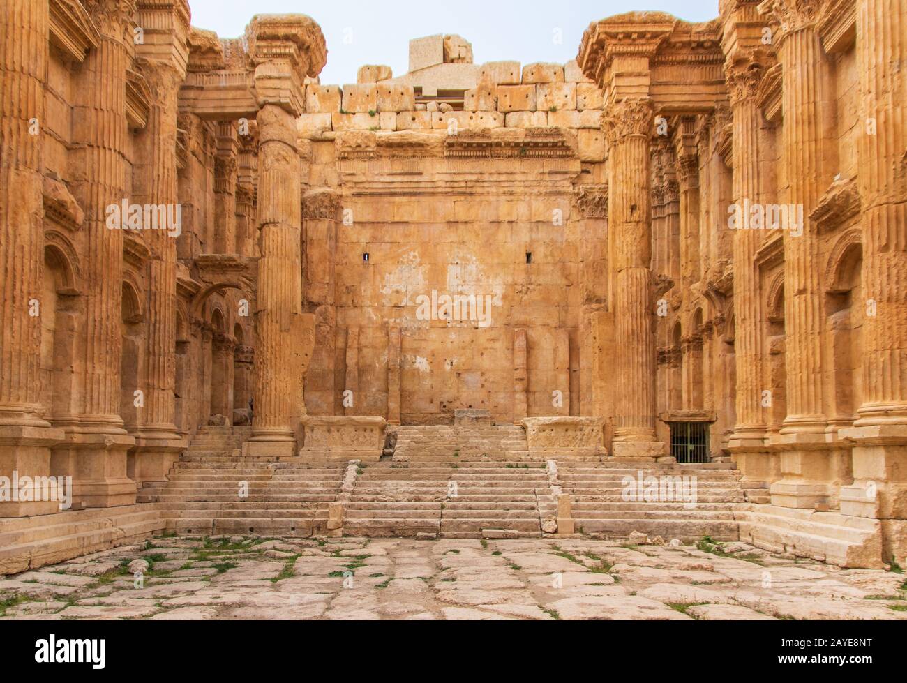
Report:
[{"label": "freestanding column with carved capital, just left of iron-barred opening", "polygon": [[664,454],[655,441],[655,337],[652,334],[648,98],[614,102],[603,128],[608,136],[610,230],[613,234],[612,305],[615,320],[614,455],[651,460]]}]

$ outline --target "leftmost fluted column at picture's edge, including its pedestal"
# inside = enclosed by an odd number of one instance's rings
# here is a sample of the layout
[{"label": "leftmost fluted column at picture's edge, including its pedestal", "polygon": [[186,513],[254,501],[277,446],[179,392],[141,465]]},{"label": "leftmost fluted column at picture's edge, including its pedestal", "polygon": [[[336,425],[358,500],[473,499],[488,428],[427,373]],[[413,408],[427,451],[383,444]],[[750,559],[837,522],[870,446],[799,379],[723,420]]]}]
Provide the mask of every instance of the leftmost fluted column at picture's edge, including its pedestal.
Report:
[{"label": "leftmost fluted column at picture's edge, including its pedestal", "polygon": [[[63,438],[38,399],[48,24],[46,2],[10,0],[0,13],[0,476],[7,477],[46,476],[50,446]],[[0,517],[58,509],[56,502],[0,502]]]}]

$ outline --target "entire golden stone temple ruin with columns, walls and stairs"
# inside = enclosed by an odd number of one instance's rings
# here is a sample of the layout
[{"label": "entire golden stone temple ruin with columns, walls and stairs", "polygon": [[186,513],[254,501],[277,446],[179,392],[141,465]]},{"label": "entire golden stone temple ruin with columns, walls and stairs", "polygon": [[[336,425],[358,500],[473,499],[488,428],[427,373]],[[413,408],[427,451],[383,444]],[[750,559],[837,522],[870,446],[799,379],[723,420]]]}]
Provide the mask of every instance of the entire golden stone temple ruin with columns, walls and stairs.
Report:
[{"label": "entire golden stone temple ruin with columns, walls and stairs", "polygon": [[304,15],[6,0],[0,573],[160,532],[903,562],[907,9],[720,7],[326,84]]}]

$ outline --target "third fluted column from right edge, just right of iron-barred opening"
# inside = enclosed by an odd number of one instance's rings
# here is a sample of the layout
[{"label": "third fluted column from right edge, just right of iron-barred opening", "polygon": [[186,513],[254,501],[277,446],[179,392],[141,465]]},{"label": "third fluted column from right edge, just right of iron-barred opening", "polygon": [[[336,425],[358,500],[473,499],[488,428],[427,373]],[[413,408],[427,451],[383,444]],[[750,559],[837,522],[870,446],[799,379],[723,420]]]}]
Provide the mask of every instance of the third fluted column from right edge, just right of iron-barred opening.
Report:
[{"label": "third fluted column from right edge, just right of iron-barred opening", "polygon": [[[733,194],[736,206],[761,203],[765,196],[760,169],[762,112],[756,104],[756,88],[764,64],[755,55],[741,55],[726,65],[734,135]],[[717,229],[726,229],[724,225]],[[754,229],[734,231],[734,320],[736,356],[736,425],[728,444],[748,481],[776,478],[766,453],[766,312],[761,306],[756,251],[762,233]]]}]

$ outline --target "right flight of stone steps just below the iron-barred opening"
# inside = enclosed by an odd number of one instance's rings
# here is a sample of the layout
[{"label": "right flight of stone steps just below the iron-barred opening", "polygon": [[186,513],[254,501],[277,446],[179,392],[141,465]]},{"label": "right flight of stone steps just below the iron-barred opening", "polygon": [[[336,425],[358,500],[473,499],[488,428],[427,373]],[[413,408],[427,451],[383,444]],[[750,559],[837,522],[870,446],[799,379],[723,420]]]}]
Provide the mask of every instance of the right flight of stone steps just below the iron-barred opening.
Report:
[{"label": "right flight of stone steps just below the iron-barred opening", "polygon": [[[631,532],[640,532],[666,540],[711,536],[717,541],[736,541],[735,511],[743,507],[746,497],[733,467],[725,463],[561,461],[559,479],[563,493],[571,496],[577,530],[583,533],[608,539],[625,539]],[[634,482],[629,490],[627,477]],[[647,489],[652,477],[658,481],[659,493]],[[683,478],[687,478],[686,485]],[[675,484],[673,490],[668,481]]]}]

